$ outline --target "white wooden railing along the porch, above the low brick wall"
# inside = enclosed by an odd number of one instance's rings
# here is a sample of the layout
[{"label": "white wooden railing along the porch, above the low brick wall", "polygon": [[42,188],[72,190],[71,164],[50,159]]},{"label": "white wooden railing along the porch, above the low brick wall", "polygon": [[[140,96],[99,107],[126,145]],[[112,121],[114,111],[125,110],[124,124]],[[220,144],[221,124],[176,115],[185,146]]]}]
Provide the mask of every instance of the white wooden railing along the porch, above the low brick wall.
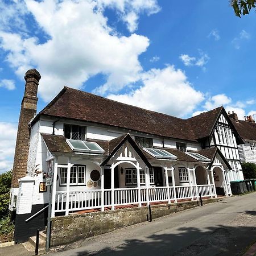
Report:
[{"label": "white wooden railing along the porch, above the low brick wall", "polygon": [[[230,191],[230,185],[227,184]],[[140,201],[139,201],[140,192]],[[231,192],[230,192],[231,193]],[[68,212],[85,209],[113,207],[113,205],[130,205],[161,201],[175,201],[181,199],[192,200],[201,194],[202,197],[215,196],[214,185],[150,187],[150,188],[115,188],[112,201],[112,190],[104,189],[104,200],[101,200],[101,189],[85,191],[70,191]],[[55,213],[67,212],[67,192],[56,192]]]}]

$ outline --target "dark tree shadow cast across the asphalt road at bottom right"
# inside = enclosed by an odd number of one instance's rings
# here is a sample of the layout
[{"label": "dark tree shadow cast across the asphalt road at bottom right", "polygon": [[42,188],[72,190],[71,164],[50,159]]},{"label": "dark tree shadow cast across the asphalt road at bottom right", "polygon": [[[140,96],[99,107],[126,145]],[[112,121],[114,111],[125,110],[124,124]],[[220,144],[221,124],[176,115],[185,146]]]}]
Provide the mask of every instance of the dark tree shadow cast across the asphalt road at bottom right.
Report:
[{"label": "dark tree shadow cast across the asphalt road at bottom right", "polygon": [[[251,212],[249,213],[251,214]],[[253,215],[255,212],[252,213]],[[135,231],[134,231],[135,232]],[[175,233],[152,234],[144,240],[126,240],[117,248],[106,246],[97,253],[79,251],[82,255],[242,255],[246,247],[255,242],[255,226],[217,225],[201,230],[180,228]],[[134,234],[135,236],[135,234]],[[84,242],[86,243],[86,242]],[[66,248],[67,250],[67,248]]]}]

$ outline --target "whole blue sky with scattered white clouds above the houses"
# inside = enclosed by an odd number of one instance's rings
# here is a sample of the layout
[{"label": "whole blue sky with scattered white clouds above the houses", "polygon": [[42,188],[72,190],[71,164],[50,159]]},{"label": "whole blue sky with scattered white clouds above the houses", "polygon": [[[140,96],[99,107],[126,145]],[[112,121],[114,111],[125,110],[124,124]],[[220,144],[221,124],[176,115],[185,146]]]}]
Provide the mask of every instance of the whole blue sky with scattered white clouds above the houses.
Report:
[{"label": "whole blue sky with scattered white clouds above the houses", "polygon": [[181,118],[256,113],[256,15],[237,18],[228,0],[0,0],[0,12],[0,173],[29,68],[38,110],[67,85]]}]

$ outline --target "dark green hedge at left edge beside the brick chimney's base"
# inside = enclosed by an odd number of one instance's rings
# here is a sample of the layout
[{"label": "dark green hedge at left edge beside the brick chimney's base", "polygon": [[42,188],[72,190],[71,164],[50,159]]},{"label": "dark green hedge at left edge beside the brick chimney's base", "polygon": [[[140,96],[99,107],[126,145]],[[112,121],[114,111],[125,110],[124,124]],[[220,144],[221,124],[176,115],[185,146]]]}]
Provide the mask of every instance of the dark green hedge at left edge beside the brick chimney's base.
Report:
[{"label": "dark green hedge at left edge beside the brick chimney's base", "polygon": [[11,189],[11,171],[0,175],[0,220],[8,215]]}]

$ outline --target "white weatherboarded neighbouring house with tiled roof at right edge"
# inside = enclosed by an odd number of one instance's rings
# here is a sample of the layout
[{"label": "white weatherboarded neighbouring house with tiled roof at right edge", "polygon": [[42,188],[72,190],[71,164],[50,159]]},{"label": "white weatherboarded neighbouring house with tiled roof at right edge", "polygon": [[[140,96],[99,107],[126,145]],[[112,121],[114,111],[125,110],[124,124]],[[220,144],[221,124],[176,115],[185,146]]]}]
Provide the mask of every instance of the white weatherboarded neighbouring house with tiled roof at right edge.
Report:
[{"label": "white weatherboarded neighbouring house with tiled roof at right edge", "polygon": [[238,144],[238,152],[242,163],[256,164],[256,123],[250,115],[245,120],[238,120],[236,113],[229,113],[233,125],[243,139],[242,144]]}]

